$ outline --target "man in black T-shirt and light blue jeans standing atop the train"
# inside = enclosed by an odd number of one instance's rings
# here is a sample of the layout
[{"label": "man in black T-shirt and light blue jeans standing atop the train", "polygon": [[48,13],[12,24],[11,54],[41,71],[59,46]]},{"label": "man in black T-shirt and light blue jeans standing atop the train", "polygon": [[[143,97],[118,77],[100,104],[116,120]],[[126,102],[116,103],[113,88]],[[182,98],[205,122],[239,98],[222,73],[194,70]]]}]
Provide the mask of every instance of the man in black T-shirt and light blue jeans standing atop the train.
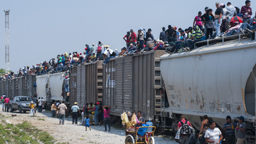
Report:
[{"label": "man in black T-shirt and light blue jeans standing atop the train", "polygon": [[219,2],[215,3],[216,6],[216,11],[215,11],[215,21],[214,21],[214,25],[215,25],[215,30],[216,30],[216,37],[215,38],[220,38],[221,36],[221,24],[222,24],[222,14],[223,14],[223,9],[220,7]]}]

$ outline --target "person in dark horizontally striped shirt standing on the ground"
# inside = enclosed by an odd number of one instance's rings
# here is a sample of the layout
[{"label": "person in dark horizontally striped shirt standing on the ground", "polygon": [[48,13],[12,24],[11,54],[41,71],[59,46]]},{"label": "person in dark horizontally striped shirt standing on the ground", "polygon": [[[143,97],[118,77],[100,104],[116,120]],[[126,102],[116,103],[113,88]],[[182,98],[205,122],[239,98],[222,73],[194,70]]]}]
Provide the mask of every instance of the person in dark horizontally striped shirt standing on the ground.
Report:
[{"label": "person in dark horizontally striped shirt standing on the ground", "polygon": [[236,123],[232,122],[232,119],[230,116],[226,116],[226,120],[227,120],[227,122],[223,126],[223,131],[226,131],[225,142],[226,142],[226,144],[235,144]]}]

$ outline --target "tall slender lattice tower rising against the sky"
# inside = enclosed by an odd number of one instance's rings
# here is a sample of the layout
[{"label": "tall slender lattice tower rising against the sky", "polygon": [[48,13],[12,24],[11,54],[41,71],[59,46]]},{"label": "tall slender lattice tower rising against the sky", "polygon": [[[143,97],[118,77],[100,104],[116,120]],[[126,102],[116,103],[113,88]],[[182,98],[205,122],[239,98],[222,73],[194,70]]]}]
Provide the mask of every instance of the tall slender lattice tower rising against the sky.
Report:
[{"label": "tall slender lattice tower rising against the sky", "polygon": [[10,10],[4,10],[6,13],[6,73],[9,72],[9,12]]}]

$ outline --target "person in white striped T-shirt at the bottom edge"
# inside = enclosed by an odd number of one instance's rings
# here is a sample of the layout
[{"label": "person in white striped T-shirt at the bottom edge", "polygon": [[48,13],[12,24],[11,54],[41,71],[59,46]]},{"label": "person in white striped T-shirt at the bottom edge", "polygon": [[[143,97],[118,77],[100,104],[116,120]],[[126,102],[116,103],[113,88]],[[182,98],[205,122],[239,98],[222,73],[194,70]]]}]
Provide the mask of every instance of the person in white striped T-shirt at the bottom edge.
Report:
[{"label": "person in white striped T-shirt at the bottom edge", "polygon": [[223,136],[218,127],[216,127],[215,121],[211,120],[209,122],[210,129],[207,129],[205,132],[205,141],[208,144],[220,144]]}]

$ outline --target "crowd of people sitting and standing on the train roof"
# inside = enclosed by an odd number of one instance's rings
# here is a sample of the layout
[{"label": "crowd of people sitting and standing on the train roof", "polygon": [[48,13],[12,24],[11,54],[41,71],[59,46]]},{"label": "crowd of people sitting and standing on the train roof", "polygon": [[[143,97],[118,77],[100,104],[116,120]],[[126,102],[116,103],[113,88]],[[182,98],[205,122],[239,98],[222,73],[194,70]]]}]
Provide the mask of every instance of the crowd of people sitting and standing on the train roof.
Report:
[{"label": "crowd of people sitting and standing on the train roof", "polygon": [[37,63],[32,67],[24,66],[24,68],[19,69],[17,74],[9,72],[0,76],[0,80],[30,74],[41,75],[64,72],[70,70],[72,66],[98,60],[104,61],[103,63],[106,64],[113,57],[141,54],[143,51],[166,50],[170,54],[188,52],[194,49],[195,42],[235,34],[250,33],[252,39],[255,39],[256,13],[253,15],[250,5],[250,0],[246,0],[245,6],[242,6],[240,10],[239,7],[232,6],[231,2],[226,5],[216,2],[215,13],[213,13],[213,8],[205,7],[204,13],[198,12],[192,26],[182,29],[169,25],[167,30],[163,27],[159,39],[155,39],[151,28],[148,28],[147,31],[144,28],[139,28],[137,33],[131,29],[123,37],[126,47],[121,48],[121,52],[117,49],[114,51],[104,47],[102,42],[98,41],[96,45],[89,46],[86,44],[83,53],[73,52],[68,54],[65,52],[65,54],[59,54],[56,59],[52,58],[48,62]]}]

